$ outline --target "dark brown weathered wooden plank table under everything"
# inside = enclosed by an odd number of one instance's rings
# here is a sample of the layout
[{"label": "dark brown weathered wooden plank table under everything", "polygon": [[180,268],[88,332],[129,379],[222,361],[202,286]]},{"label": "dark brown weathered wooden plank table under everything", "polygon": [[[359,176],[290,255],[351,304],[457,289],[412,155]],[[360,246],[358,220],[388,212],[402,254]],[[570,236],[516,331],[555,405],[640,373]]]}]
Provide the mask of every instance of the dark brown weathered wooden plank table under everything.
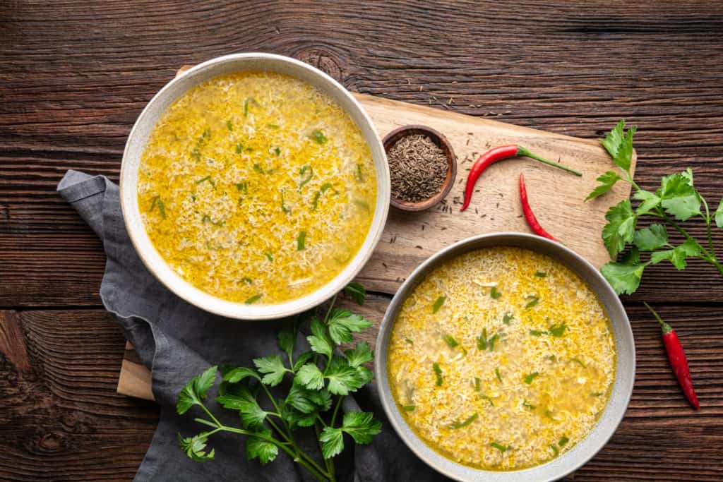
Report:
[{"label": "dark brown weathered wooden plank table under everything", "polygon": [[[723,194],[720,1],[355,3],[0,0],[0,480],[129,480],[150,443],[158,408],[115,391],[103,250],[55,186],[69,168],[117,180],[136,116],[181,64],[282,53],[356,92],[579,137],[625,117],[638,183],[690,165],[711,203]],[[700,412],[643,300],[677,328]],[[723,279],[661,264],[625,306],[633,400],[575,480],[723,479]]]}]

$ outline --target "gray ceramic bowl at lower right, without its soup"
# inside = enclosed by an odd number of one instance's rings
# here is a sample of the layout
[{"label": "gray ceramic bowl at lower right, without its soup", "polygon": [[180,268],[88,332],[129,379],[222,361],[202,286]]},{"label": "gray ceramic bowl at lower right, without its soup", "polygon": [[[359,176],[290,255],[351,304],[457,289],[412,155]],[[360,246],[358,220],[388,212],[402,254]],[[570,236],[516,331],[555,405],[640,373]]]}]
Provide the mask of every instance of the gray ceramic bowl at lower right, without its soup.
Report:
[{"label": "gray ceramic bowl at lower right, without its soup", "polygon": [[[607,314],[612,322],[612,329],[615,335],[615,348],[617,350],[617,367],[615,372],[615,384],[612,387],[612,395],[607,407],[602,413],[599,421],[592,429],[589,436],[583,439],[568,452],[560,455],[550,462],[524,470],[513,470],[509,472],[494,472],[479,470],[466,465],[461,465],[448,458],[442,457],[432,450],[409,429],[406,421],[399,412],[389,387],[387,376],[387,349],[392,325],[397,317],[403,301],[410,295],[429,272],[448,259],[459,256],[468,251],[494,246],[516,246],[531,249],[538,253],[557,259],[565,264],[570,270],[576,272],[583,280],[591,286],[593,291],[602,301]],[[625,314],[623,304],[612,291],[612,288],[600,273],[585,259],[570,251],[560,244],[522,233],[497,233],[484,236],[475,236],[459,241],[452,246],[438,252],[422,263],[407,278],[406,282],[399,288],[394,296],[387,312],[382,320],[379,336],[377,337],[377,356],[375,356],[375,372],[377,384],[379,384],[382,406],[390,419],[397,434],[407,446],[419,458],[427,462],[432,468],[458,481],[489,481],[489,482],[543,482],[555,481],[565,475],[577,470],[591,459],[612,436],[623,420],[625,409],[628,408],[630,395],[633,392],[635,379],[635,344],[633,343],[633,332],[630,330],[630,322]]]}]

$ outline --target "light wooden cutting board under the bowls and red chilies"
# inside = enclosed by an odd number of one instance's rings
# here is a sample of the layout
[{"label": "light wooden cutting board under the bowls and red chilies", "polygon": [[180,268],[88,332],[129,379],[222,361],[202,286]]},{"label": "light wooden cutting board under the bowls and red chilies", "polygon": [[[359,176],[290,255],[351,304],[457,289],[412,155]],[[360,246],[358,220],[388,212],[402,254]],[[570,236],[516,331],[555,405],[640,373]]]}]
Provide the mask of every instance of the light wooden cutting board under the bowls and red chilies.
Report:
[{"label": "light wooden cutting board under the bowls and red chilies", "polygon": [[[186,69],[182,68],[179,74]],[[390,209],[382,239],[359,273],[358,280],[369,291],[395,293],[424,259],[463,238],[499,231],[529,233],[519,199],[520,173],[525,174],[532,210],[549,233],[596,267],[609,260],[600,237],[604,215],[609,206],[628,199],[630,186],[618,183],[602,199],[583,202],[596,185],[595,178],[614,168],[597,139],[552,134],[372,95],[354,97],[372,117],[380,137],[407,124],[430,126],[447,137],[458,160],[455,186],[440,205],[416,213]],[[471,206],[460,212],[464,184],[474,160],[490,147],[505,144],[522,145],[544,158],[559,160],[583,176],[576,177],[527,158],[505,160],[479,178]],[[633,171],[636,159],[633,152]],[[378,324],[380,319],[371,321]],[[140,363],[131,345],[126,348],[118,392],[153,400],[150,371]]]}]

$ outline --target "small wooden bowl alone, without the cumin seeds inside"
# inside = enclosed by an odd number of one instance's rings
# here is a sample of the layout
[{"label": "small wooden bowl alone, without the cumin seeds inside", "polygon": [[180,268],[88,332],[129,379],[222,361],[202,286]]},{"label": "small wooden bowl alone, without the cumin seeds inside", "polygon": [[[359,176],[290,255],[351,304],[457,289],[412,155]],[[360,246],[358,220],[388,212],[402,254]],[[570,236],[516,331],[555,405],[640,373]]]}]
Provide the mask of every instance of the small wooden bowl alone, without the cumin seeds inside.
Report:
[{"label": "small wooden bowl alone, without the cumin seeds inside", "polygon": [[452,145],[450,145],[444,135],[435,131],[435,129],[432,129],[431,127],[420,125],[401,126],[387,134],[382,140],[382,144],[384,144],[384,150],[387,152],[387,155],[389,155],[389,150],[399,139],[411,134],[422,134],[429,137],[429,139],[432,139],[432,142],[434,142],[437,147],[440,147],[447,158],[447,177],[445,177],[444,182],[442,182],[442,188],[437,194],[429,199],[417,202],[406,201],[405,199],[393,196],[389,200],[390,205],[392,205],[392,207],[396,207],[397,209],[403,211],[422,211],[436,206],[447,196],[447,194],[449,194],[450,189],[454,186],[454,180],[457,177],[457,157],[454,154]]}]

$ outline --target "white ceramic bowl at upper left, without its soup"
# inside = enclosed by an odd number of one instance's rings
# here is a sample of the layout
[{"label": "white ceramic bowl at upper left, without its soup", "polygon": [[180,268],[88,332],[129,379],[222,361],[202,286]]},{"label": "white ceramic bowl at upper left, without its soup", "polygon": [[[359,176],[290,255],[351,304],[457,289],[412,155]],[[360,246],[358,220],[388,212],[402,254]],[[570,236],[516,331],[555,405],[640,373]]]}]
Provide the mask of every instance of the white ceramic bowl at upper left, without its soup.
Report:
[{"label": "white ceramic bowl at upper left, without its soup", "polygon": [[[288,74],[322,90],[333,98],[354,120],[372,151],[377,171],[377,207],[372,225],[354,259],[333,280],[317,291],[280,304],[247,305],[217,298],[201,291],[171,270],[148,238],[138,210],[137,183],[140,158],[156,121],[184,92],[208,79],[231,72],[266,70]],[[168,82],[138,117],[129,134],[121,165],[121,207],[133,246],[150,272],[166,287],[184,300],[211,313],[237,319],[273,319],[286,317],[317,306],[340,291],[361,270],[377,246],[387,220],[390,183],[387,158],[382,142],[364,108],[338,82],[324,72],[301,61],[270,53],[236,53],[211,59],[194,66],[180,77]]]}]

